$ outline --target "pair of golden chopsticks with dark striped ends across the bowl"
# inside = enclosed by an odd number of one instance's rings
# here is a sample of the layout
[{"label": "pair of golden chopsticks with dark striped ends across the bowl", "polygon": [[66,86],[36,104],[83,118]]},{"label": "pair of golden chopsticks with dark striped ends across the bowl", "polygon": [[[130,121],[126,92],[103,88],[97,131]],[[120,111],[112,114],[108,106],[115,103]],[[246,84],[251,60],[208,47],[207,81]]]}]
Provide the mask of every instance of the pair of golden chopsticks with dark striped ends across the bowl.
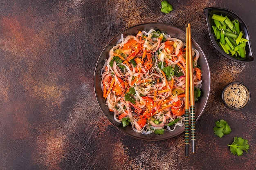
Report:
[{"label": "pair of golden chopsticks with dark striped ends across the bowl", "polygon": [[190,24],[186,27],[186,89],[185,89],[185,157],[189,157],[189,91],[192,153],[195,153],[195,99]]}]

